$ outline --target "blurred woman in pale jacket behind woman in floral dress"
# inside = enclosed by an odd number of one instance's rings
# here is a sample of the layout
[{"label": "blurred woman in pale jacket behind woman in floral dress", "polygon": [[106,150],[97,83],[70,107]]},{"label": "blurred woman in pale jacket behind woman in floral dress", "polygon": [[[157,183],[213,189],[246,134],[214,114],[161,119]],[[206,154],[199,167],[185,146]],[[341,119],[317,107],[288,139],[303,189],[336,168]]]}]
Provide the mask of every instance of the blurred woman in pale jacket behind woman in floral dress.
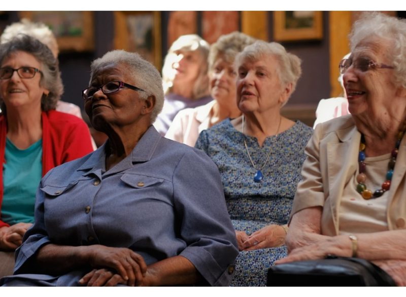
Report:
[{"label": "blurred woman in pale jacket behind woman in floral dress", "polygon": [[232,32],[222,35],[209,52],[209,88],[213,101],[186,108],[176,115],[165,137],[194,146],[199,133],[225,120],[241,116],[235,104],[235,55],[255,42],[250,36]]}]

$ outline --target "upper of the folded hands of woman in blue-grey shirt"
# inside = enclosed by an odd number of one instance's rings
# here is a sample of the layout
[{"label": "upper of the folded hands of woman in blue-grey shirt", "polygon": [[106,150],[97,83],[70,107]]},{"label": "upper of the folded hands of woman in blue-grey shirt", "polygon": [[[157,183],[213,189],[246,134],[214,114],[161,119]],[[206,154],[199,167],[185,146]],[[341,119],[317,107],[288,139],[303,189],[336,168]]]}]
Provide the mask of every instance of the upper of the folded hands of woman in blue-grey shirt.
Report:
[{"label": "upper of the folded hands of woman in blue-grey shirt", "polygon": [[[146,276],[147,265],[144,258],[128,248],[108,247],[104,245],[91,245],[88,248],[90,249],[89,262],[92,267],[108,268],[117,272],[129,286],[140,285]],[[100,273],[98,272],[98,274]],[[101,280],[107,278],[107,275],[100,278],[97,277],[97,279],[101,282]],[[120,281],[114,275],[111,278],[113,278],[111,283]]]}]

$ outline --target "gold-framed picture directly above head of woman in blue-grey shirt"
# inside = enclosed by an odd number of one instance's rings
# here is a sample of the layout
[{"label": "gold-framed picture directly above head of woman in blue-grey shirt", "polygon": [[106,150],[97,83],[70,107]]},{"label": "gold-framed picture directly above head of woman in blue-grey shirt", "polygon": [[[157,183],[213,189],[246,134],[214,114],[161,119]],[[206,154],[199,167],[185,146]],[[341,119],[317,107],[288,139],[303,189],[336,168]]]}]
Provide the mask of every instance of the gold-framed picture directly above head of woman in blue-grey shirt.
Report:
[{"label": "gold-framed picture directly above head of woman in blue-grey shirt", "polygon": [[115,11],[114,47],[137,52],[160,70],[161,17],[159,11]]}]

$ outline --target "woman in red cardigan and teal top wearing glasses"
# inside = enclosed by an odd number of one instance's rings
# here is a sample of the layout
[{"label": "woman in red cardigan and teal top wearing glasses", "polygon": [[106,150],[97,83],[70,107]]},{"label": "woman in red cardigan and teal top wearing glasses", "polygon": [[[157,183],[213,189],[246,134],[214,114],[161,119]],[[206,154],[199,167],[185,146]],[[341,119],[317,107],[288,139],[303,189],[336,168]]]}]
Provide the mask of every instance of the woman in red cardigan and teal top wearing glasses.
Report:
[{"label": "woman in red cardigan and teal top wearing glasses", "polygon": [[35,194],[53,167],[92,152],[89,129],[56,112],[62,94],[58,62],[47,46],[19,35],[0,46],[0,275],[34,220]]}]

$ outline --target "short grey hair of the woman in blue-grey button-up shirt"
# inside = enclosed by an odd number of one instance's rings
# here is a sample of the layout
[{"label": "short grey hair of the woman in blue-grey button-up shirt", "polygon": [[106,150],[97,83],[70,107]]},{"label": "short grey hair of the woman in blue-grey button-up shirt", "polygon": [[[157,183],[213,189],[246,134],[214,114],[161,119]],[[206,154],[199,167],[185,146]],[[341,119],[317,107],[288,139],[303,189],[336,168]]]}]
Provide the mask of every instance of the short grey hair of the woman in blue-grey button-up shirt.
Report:
[{"label": "short grey hair of the woman in blue-grey button-up shirt", "polygon": [[137,53],[114,50],[106,53],[101,58],[95,59],[91,63],[90,81],[92,81],[93,74],[97,69],[108,64],[125,64],[128,66],[128,71],[130,71],[134,82],[137,82],[137,87],[145,91],[145,93],[139,92],[140,97],[144,100],[149,96],[155,97],[155,107],[151,114],[151,123],[155,122],[163,107],[162,79],[155,66]]}]

